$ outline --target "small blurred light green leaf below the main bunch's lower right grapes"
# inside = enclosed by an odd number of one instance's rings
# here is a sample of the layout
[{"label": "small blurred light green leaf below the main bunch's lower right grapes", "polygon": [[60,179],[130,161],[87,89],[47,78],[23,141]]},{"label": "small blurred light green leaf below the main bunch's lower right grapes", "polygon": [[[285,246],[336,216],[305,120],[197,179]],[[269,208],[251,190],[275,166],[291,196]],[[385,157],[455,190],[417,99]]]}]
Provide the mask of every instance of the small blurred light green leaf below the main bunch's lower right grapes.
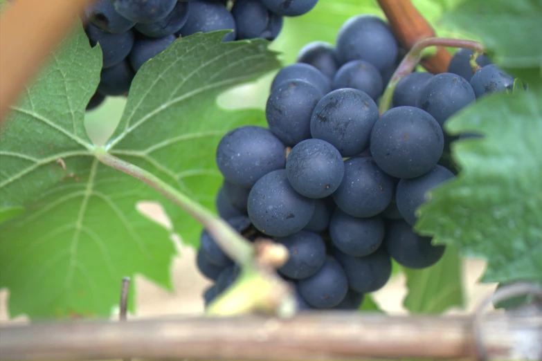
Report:
[{"label": "small blurred light green leaf below the main bunch's lower right grapes", "polygon": [[442,313],[463,306],[461,258],[456,247],[446,248],[435,265],[422,270],[404,268],[406,295],[403,305],[411,313]]}]

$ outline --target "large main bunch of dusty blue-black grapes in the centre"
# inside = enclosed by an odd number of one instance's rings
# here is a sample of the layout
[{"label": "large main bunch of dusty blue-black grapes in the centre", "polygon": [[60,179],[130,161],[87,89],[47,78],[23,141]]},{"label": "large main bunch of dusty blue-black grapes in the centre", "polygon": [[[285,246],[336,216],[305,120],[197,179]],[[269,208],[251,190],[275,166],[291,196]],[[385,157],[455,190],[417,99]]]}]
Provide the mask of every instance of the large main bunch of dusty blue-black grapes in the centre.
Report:
[{"label": "large main bunch of dusty blue-black grapes in the centre", "polygon": [[[343,24],[336,45],[315,42],[282,68],[267,100],[268,128],[244,126],[220,140],[224,183],[219,215],[249,239],[268,237],[289,250],[278,273],[295,285],[298,308],[356,309],[382,288],[392,259],[421,269],[444,246],[413,230],[426,193],[454,177],[440,165],[442,124],[514,79],[481,55],[460,49],[449,73],[402,79],[393,106],[377,102],[404,52],[386,21],[360,15]],[[240,269],[204,230],[197,255],[215,281],[208,304]]]}]

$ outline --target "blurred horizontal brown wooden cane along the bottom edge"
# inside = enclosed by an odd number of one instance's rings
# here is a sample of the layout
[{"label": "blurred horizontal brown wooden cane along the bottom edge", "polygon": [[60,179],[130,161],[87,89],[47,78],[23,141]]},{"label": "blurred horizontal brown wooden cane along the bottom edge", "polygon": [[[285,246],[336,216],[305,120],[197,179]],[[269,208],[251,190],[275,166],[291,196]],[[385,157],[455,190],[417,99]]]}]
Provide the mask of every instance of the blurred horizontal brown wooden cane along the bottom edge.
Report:
[{"label": "blurred horizontal brown wooden cane along the bottom edge", "polygon": [[[359,358],[476,359],[471,317],[307,313],[131,322],[70,322],[0,328],[4,360]],[[542,316],[487,315],[484,349],[498,360],[541,360]]]}]

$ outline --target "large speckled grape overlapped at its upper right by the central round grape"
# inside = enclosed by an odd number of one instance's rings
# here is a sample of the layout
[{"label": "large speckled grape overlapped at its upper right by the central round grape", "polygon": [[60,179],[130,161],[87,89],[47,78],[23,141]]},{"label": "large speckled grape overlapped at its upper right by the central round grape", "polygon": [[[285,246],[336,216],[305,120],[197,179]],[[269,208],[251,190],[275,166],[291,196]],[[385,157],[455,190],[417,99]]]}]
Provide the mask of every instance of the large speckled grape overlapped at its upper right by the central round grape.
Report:
[{"label": "large speckled grape overlapped at its upper right by the central round grape", "polygon": [[298,194],[284,169],[262,176],[249,194],[249,217],[261,232],[287,237],[307,225],[314,212],[314,199]]}]

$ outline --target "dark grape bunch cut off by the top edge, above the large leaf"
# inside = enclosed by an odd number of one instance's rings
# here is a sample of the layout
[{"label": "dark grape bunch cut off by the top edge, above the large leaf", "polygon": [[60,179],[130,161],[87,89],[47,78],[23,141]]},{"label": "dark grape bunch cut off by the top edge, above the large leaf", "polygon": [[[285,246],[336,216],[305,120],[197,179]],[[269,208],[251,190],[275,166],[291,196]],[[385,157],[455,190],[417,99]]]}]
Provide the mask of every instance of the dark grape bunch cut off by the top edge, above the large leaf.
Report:
[{"label": "dark grape bunch cut off by the top edge, above the large leaf", "polygon": [[105,97],[124,95],[147,60],[175,39],[195,33],[233,30],[224,41],[273,40],[283,17],[309,12],[318,0],[97,0],[85,12],[92,46],[100,44],[103,65],[98,90],[87,110]]}]

